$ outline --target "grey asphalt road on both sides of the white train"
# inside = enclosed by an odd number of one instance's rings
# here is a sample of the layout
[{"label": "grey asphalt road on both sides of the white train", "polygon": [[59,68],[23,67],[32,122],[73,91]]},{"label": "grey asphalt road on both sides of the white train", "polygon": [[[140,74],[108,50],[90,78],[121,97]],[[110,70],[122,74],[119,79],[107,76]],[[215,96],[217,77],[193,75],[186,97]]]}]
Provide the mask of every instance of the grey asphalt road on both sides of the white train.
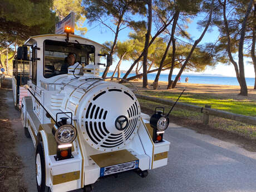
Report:
[{"label": "grey asphalt road on both sides of the white train", "polygon": [[[18,137],[16,151],[24,164],[24,180],[28,191],[35,192],[35,149],[32,140],[23,134],[11,91],[7,97],[12,129]],[[101,179],[93,191],[256,191],[256,152],[175,124],[170,124],[164,137],[171,142],[168,165],[150,170],[144,179],[133,172]]]}]

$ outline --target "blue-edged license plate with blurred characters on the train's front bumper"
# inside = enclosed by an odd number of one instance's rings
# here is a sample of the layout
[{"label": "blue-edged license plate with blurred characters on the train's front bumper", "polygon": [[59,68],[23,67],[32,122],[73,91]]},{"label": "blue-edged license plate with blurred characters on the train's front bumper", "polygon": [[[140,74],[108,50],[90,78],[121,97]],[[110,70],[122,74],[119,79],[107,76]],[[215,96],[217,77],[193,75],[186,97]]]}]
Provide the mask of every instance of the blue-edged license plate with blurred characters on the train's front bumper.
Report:
[{"label": "blue-edged license plate with blurred characters on the train's front bumper", "polygon": [[132,169],[136,169],[136,168],[139,168],[139,160],[131,161],[128,163],[123,163],[123,164],[106,166],[105,168],[101,168],[100,176],[111,175],[111,174],[120,173],[123,171],[128,171],[128,170],[132,170]]}]

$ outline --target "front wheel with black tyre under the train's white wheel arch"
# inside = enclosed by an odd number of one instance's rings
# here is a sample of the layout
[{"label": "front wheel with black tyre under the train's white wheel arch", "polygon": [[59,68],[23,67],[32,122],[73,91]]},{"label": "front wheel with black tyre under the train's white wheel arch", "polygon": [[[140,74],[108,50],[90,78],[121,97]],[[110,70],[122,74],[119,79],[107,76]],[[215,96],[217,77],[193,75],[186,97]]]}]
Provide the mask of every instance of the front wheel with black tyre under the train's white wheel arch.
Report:
[{"label": "front wheel with black tyre under the train's white wheel arch", "polygon": [[50,188],[46,186],[45,175],[45,154],[43,152],[42,141],[38,142],[36,149],[36,183],[38,192],[48,192]]}]

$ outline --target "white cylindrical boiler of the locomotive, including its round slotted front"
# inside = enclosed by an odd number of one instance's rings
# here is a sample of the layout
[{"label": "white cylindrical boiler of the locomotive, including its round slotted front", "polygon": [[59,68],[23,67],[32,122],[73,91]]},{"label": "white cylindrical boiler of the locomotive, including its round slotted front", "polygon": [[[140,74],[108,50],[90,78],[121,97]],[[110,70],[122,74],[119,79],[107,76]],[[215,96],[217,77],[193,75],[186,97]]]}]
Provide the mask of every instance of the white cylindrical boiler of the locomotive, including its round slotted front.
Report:
[{"label": "white cylindrical boiler of the locomotive, including its round slotted front", "polygon": [[52,95],[51,105],[66,96],[61,108],[74,114],[87,144],[99,151],[115,151],[129,145],[141,123],[140,105],[134,93],[124,85],[108,81],[85,78],[67,83],[72,86],[64,86],[60,93]]}]

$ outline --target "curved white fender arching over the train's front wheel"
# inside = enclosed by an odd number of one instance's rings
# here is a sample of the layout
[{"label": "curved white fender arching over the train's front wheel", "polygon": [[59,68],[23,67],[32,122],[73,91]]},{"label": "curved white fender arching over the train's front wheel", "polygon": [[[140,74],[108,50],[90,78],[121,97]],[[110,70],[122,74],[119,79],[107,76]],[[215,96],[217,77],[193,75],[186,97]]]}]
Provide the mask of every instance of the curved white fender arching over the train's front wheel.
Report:
[{"label": "curved white fender arching over the train's front wheel", "polygon": [[42,141],[43,143],[43,151],[45,153],[45,172],[46,172],[46,186],[50,186],[50,179],[51,179],[51,163],[50,163],[50,156],[48,155],[48,142],[47,142],[47,136],[44,130],[40,130],[37,135],[37,144],[38,141]]}]

